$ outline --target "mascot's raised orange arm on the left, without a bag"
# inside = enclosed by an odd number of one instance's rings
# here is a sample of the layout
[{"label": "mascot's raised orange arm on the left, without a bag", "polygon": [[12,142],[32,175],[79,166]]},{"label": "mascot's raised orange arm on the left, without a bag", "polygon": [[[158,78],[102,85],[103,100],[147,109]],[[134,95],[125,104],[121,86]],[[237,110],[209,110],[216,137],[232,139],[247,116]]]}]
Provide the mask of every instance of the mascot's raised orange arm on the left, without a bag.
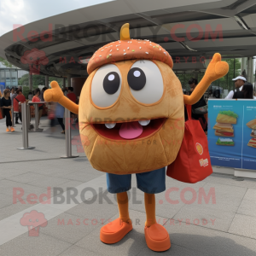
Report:
[{"label": "mascot's raised orange arm on the left, without a bag", "polygon": [[51,89],[44,91],[45,102],[58,102],[64,108],[67,108],[73,113],[79,113],[79,105],[75,104],[64,96],[61,87],[56,81],[50,83]]}]

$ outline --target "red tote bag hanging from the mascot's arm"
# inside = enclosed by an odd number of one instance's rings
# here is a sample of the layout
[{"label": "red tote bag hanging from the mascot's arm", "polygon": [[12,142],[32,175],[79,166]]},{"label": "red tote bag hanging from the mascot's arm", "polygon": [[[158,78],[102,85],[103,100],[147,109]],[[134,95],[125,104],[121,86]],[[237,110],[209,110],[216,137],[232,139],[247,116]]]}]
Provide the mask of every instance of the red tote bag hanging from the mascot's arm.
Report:
[{"label": "red tote bag hanging from the mascot's arm", "polygon": [[185,122],[183,143],[166,175],[183,183],[197,183],[212,174],[211,159],[207,136],[199,120],[191,118],[191,106],[186,108],[189,119]]}]

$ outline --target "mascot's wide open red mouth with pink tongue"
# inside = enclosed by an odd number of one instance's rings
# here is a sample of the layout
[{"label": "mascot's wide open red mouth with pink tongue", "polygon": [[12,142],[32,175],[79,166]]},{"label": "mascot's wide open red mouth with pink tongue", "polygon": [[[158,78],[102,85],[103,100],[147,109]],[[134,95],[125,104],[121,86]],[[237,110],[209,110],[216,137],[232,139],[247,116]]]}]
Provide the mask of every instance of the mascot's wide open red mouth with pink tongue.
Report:
[{"label": "mascot's wide open red mouth with pink tongue", "polygon": [[92,124],[92,127],[102,137],[121,141],[151,136],[160,130],[165,121],[166,118],[160,118],[124,123]]}]

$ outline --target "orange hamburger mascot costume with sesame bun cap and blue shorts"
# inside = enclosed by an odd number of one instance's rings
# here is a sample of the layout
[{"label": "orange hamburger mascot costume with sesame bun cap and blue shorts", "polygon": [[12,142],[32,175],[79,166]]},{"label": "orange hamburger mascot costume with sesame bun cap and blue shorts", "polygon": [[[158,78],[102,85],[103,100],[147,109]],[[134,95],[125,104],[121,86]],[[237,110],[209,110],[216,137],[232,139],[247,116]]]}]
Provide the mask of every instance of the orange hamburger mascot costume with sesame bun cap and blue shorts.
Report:
[{"label": "orange hamburger mascot costume with sesame bun cap and blue shorts", "polygon": [[[126,23],[119,41],[104,45],[91,57],[79,105],[64,96],[55,81],[44,92],[47,102],[59,102],[79,114],[84,152],[91,166],[107,173],[108,191],[117,194],[119,218],[102,227],[104,243],[116,243],[132,230],[126,191],[134,173],[137,188],[144,192],[147,245],[158,252],[171,247],[169,234],[155,220],[154,194],[166,189],[166,166],[176,160],[181,147],[184,104],[198,102],[208,86],[229,70],[215,54],[193,94],[183,96],[172,66],[166,49],[131,39]],[[177,143],[164,143],[173,140]]]}]

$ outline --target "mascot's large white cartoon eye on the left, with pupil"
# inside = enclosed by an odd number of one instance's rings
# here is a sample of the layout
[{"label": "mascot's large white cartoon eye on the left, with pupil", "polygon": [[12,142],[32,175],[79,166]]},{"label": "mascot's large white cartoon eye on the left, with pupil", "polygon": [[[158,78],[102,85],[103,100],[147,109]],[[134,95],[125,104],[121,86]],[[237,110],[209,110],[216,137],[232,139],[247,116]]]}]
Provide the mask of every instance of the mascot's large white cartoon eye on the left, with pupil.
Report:
[{"label": "mascot's large white cartoon eye on the left, with pupil", "polygon": [[107,108],[119,98],[121,73],[113,64],[100,67],[91,82],[91,99],[97,107]]}]

